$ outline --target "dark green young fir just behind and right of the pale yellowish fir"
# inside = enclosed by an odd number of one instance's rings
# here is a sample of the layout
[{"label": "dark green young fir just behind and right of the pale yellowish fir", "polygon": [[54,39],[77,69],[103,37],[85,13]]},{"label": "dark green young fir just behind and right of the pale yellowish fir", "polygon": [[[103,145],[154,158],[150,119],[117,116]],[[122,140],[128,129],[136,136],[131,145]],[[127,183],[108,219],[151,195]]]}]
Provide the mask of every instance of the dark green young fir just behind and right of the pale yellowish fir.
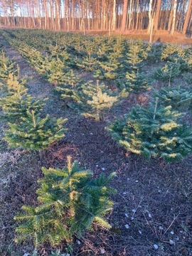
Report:
[{"label": "dark green young fir just behind and right of the pale yellowish fir", "polygon": [[125,78],[117,80],[117,86],[127,92],[139,94],[149,88],[149,82],[146,80],[144,72],[133,69],[126,73]]}]

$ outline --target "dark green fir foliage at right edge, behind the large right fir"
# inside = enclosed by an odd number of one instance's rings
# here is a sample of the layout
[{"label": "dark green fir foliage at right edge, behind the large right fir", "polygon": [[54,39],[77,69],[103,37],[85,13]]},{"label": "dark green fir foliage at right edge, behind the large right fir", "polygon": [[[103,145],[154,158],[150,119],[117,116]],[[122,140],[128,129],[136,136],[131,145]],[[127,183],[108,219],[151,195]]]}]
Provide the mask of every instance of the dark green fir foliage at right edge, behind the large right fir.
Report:
[{"label": "dark green fir foliage at right edge, behind the large right fir", "polygon": [[192,91],[180,86],[161,88],[154,94],[159,97],[162,105],[171,105],[174,109],[187,109],[192,103]]}]

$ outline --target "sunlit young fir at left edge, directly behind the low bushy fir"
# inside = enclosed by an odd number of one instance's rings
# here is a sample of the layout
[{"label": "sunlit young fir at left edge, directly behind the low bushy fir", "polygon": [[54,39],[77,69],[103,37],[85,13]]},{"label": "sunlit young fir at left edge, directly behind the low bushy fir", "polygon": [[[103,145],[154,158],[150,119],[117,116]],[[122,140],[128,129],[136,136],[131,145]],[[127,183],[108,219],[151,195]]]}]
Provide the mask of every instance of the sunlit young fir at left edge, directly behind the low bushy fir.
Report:
[{"label": "sunlit young fir at left edge, directly behind the low bushy fir", "polygon": [[10,122],[19,122],[21,117],[26,117],[26,111],[43,109],[44,100],[35,100],[28,95],[25,87],[26,78],[18,79],[9,75],[6,80],[6,96],[0,98],[0,107],[3,110],[3,118]]}]

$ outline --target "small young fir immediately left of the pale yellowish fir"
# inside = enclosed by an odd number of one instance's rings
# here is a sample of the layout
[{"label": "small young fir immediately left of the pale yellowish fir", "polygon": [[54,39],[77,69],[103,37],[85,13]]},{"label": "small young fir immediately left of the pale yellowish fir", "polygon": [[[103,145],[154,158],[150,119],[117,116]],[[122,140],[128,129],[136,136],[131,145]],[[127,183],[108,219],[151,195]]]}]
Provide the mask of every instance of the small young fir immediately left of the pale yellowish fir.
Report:
[{"label": "small young fir immediately left of the pale yellowish fir", "polygon": [[55,89],[60,92],[63,99],[73,99],[74,92],[80,90],[80,78],[73,72],[73,70],[70,70],[63,75],[62,79],[63,83],[57,85]]}]

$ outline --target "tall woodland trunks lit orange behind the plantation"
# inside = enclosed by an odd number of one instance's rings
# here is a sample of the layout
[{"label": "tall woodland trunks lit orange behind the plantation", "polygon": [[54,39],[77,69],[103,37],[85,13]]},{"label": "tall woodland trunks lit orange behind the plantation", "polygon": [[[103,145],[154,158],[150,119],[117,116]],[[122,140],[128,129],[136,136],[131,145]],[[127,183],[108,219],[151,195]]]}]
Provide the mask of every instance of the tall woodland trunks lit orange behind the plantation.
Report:
[{"label": "tall woodland trunks lit orange behind the plantation", "polygon": [[191,33],[192,0],[0,0],[3,26]]}]

